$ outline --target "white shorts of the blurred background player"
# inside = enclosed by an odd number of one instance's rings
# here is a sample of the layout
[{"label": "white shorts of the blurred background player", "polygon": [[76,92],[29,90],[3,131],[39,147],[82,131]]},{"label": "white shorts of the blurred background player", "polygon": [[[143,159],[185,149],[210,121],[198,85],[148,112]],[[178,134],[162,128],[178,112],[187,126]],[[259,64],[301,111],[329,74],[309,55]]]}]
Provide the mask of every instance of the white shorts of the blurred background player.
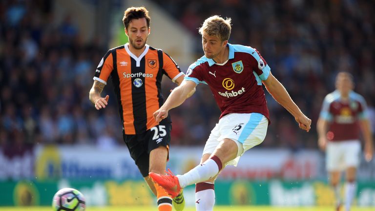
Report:
[{"label": "white shorts of the blurred background player", "polygon": [[327,171],[342,171],[348,167],[358,167],[360,152],[359,140],[329,141],[326,148]]}]

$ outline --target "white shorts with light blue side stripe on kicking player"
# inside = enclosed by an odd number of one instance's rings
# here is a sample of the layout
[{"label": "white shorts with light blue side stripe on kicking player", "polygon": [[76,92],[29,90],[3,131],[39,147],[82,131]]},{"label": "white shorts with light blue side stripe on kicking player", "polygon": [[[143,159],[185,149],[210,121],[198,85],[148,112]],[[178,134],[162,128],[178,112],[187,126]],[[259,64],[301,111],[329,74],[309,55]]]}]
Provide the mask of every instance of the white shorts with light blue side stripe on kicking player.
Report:
[{"label": "white shorts with light blue side stripe on kicking player", "polygon": [[212,154],[219,143],[228,138],[238,146],[237,157],[227,164],[237,166],[241,155],[259,145],[266,137],[268,119],[260,113],[230,113],[211,130],[203,154]]}]

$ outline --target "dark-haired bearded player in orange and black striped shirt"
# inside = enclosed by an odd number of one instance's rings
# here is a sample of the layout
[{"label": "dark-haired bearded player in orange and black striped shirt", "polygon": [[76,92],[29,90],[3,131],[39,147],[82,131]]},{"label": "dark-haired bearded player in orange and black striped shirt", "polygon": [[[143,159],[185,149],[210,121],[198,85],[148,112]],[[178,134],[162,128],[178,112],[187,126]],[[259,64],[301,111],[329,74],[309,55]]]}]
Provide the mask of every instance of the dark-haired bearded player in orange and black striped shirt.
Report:
[{"label": "dark-haired bearded player in orange and black striped shirt", "polygon": [[[101,97],[101,93],[111,76],[130,156],[157,196],[159,211],[171,211],[171,197],[148,177],[148,172],[165,171],[170,143],[170,118],[156,122],[153,113],[164,102],[161,92],[163,75],[176,84],[181,84],[185,75],[165,52],[146,44],[150,17],[145,7],[126,9],[123,22],[129,42],[108,50],[104,55],[95,71],[90,100],[98,110],[107,106],[109,96]],[[182,192],[173,199],[173,204],[177,211],[184,209]]]}]

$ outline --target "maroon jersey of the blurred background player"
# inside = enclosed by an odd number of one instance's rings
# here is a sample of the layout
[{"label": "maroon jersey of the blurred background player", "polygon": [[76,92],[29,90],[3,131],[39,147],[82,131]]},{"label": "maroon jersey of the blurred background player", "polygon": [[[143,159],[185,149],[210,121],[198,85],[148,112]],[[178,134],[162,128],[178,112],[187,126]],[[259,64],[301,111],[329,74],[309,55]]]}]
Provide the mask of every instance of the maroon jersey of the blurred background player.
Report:
[{"label": "maroon jersey of the blurred background player", "polygon": [[343,101],[340,92],[335,90],[324,98],[320,118],[329,121],[327,139],[345,141],[359,139],[358,120],[366,119],[366,102],[364,98],[350,92],[349,100]]}]

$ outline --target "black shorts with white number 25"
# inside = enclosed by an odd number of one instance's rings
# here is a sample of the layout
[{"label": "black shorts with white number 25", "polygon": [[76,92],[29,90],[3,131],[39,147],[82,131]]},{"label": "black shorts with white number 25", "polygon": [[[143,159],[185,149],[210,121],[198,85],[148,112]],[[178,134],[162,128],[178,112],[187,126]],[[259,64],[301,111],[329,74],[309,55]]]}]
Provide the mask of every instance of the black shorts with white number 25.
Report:
[{"label": "black shorts with white number 25", "polygon": [[143,177],[148,176],[149,156],[152,149],[164,146],[168,148],[169,154],[171,129],[169,121],[161,121],[159,125],[141,134],[126,135],[123,129],[125,144]]}]

